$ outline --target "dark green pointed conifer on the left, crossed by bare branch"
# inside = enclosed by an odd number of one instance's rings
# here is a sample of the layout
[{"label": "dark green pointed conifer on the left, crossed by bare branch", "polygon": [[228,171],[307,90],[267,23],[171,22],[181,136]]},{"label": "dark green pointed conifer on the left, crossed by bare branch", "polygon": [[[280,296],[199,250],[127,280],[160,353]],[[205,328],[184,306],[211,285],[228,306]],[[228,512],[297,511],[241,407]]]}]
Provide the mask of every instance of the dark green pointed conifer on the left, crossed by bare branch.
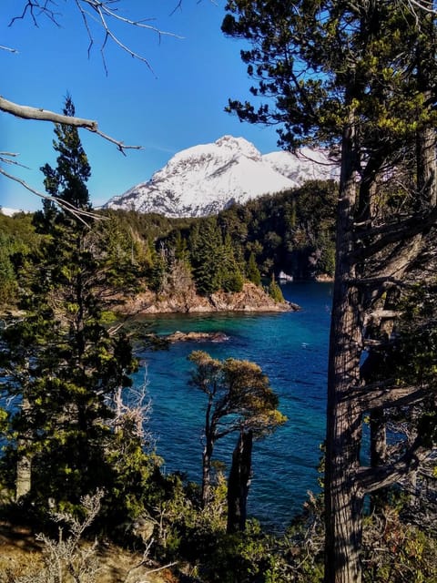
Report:
[{"label": "dark green pointed conifer on the left, crossed by bare branch", "polygon": [[[74,111],[69,97],[66,110]],[[89,209],[90,169],[76,128],[55,131],[59,156],[56,169],[43,169],[47,192]],[[117,278],[107,270],[105,240],[76,216],[46,203],[36,221],[45,242],[21,265],[25,316],[2,332],[2,388],[20,404],[9,412],[5,461],[16,460],[17,498],[37,507],[49,497],[76,505],[97,487],[109,499],[119,496],[122,507],[130,495],[116,487],[121,470],[111,462],[118,439],[112,400],[130,386],[137,362],[126,334],[103,323],[105,297]],[[137,467],[147,466],[146,457],[138,460]]]}]

